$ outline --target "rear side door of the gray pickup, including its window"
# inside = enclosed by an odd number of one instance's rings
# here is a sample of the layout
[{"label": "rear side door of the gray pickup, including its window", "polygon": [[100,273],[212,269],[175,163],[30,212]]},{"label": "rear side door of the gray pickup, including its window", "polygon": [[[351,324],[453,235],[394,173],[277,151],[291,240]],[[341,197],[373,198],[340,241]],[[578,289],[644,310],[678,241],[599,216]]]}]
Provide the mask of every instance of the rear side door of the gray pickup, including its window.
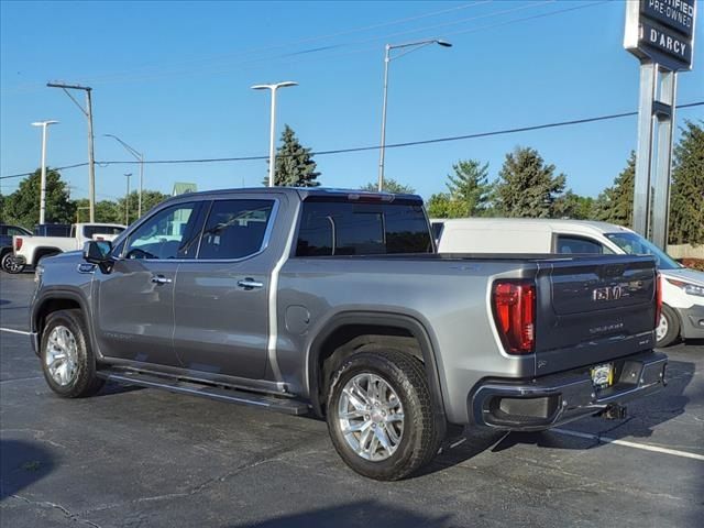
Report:
[{"label": "rear side door of the gray pickup, including its window", "polygon": [[264,378],[277,210],[278,198],[257,195],[212,202],[198,256],[176,282],[174,346],[185,367]]}]

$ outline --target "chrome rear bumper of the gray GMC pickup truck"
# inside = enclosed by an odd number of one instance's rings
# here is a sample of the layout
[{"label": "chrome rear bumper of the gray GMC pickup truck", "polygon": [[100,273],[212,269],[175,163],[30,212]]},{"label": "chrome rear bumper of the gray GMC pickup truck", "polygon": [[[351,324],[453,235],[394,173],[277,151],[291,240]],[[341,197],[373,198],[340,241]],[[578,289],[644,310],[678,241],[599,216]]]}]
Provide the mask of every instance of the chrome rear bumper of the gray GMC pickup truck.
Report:
[{"label": "chrome rear bumper of the gray GMC pickup truck", "polygon": [[654,393],[666,385],[667,355],[641,352],[613,361],[615,383],[597,389],[590,369],[532,381],[487,381],[470,394],[474,424],[494,429],[536,431],[594,415],[608,406]]}]

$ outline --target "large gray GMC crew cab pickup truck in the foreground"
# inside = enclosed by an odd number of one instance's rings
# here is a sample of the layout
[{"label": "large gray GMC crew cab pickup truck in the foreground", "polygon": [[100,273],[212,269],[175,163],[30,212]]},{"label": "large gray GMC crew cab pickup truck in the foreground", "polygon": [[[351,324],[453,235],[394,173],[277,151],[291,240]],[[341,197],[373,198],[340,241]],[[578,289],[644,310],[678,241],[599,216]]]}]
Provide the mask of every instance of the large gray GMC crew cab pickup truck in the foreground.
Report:
[{"label": "large gray GMC crew cab pickup truck in the foreground", "polygon": [[440,255],[410,195],[183,195],[36,271],[50,387],[106,380],[324,417],[341,458],[405,477],[463,426],[619,416],[664,383],[652,257]]}]

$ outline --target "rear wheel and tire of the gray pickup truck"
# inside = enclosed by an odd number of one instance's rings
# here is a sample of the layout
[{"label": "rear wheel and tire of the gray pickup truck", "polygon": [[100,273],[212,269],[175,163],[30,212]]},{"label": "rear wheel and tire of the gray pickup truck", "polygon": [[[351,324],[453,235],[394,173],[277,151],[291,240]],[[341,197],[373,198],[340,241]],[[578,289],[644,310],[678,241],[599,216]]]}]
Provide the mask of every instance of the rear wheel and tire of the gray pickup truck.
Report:
[{"label": "rear wheel and tire of the gray pickup truck", "polygon": [[330,383],[327,421],[342,460],[377,481],[404,479],[430,462],[446,432],[422,363],[396,350],[362,351],[342,362]]}]

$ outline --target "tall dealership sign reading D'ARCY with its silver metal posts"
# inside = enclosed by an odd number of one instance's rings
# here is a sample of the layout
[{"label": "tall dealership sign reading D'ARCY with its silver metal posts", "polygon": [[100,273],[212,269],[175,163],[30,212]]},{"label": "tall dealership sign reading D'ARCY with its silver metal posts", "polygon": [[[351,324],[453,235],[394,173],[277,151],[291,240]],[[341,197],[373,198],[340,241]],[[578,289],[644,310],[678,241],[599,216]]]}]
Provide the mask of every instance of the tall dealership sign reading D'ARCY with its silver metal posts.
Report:
[{"label": "tall dealership sign reading D'ARCY with its silver metal posts", "polygon": [[695,2],[626,2],[624,47],[640,59],[634,229],[647,238],[652,233],[662,249],[668,243],[676,75],[692,69]]}]

